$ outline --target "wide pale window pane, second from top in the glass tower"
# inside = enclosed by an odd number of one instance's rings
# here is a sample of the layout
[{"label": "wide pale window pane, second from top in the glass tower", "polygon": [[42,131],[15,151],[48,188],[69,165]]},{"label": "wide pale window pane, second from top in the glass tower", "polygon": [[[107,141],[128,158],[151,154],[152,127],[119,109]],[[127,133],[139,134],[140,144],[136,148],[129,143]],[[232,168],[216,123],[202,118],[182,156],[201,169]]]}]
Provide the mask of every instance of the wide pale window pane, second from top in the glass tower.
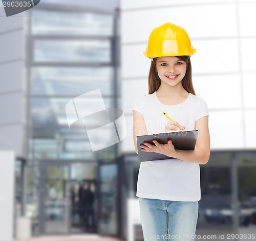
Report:
[{"label": "wide pale window pane, second from top in the glass tower", "polygon": [[111,62],[109,40],[35,40],[35,62]]}]

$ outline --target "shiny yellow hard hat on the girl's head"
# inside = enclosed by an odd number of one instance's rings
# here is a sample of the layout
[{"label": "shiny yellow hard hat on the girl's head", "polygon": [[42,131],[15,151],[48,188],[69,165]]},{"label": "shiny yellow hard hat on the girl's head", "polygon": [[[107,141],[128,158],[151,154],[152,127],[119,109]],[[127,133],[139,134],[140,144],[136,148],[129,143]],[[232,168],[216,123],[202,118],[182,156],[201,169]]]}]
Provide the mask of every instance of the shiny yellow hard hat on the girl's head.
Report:
[{"label": "shiny yellow hard hat on the girl's head", "polygon": [[186,30],[167,22],[151,32],[144,55],[148,58],[156,58],[193,55],[196,52],[197,50],[191,46]]}]

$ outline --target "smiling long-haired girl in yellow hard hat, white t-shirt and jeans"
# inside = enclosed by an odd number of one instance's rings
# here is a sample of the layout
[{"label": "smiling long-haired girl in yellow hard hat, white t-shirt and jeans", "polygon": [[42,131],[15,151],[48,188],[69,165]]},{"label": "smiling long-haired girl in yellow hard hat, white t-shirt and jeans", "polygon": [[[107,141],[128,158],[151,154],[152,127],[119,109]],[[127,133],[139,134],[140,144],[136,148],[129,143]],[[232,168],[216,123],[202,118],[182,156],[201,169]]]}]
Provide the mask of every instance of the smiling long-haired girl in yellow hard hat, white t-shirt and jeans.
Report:
[{"label": "smiling long-haired girl in yellow hard hat, white t-shirt and jeans", "polygon": [[[172,159],[141,162],[139,197],[144,241],[194,240],[200,200],[199,164],[210,154],[208,108],[196,97],[192,78],[191,47],[186,31],[172,23],[154,29],[148,39],[146,57],[152,59],[148,94],[135,101],[134,144],[136,136],[176,130],[198,130],[196,149],[176,150],[166,144],[143,143],[144,152],[157,152]],[[175,121],[168,121],[162,112]]]}]

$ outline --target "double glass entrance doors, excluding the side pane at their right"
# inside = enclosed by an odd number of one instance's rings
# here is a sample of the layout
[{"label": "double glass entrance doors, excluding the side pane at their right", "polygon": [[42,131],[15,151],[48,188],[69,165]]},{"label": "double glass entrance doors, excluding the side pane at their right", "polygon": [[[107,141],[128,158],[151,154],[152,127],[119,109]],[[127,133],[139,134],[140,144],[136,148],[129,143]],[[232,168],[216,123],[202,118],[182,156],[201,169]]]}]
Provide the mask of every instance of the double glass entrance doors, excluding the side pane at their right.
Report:
[{"label": "double glass entrance doors, excluding the side pane at their right", "polygon": [[98,163],[42,161],[40,233],[97,233]]}]

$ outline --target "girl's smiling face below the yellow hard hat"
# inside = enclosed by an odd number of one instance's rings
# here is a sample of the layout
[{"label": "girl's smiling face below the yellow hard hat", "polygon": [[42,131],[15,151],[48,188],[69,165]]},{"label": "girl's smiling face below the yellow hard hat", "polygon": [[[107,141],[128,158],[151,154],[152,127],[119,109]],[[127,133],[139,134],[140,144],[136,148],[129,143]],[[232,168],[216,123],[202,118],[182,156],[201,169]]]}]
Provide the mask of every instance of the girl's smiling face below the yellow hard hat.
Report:
[{"label": "girl's smiling face below the yellow hard hat", "polygon": [[173,87],[181,85],[181,81],[186,74],[185,61],[175,56],[158,57],[156,67],[161,85],[166,84]]}]

